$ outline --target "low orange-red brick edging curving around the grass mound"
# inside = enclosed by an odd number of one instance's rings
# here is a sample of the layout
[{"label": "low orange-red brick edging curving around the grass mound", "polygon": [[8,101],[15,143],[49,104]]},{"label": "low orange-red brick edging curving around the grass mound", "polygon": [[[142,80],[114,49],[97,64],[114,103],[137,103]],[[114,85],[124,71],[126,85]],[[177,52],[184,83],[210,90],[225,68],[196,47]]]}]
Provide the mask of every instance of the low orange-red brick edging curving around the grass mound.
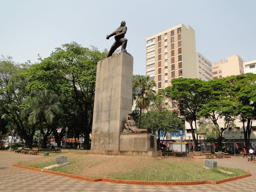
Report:
[{"label": "low orange-red brick edging curving around the grass mound", "polygon": [[124,180],[124,179],[111,179],[111,178],[91,178],[91,177],[83,177],[79,175],[73,175],[73,174],[68,174],[68,173],[61,173],[57,171],[50,171],[50,170],[45,170],[45,169],[39,169],[39,168],[34,168],[34,167],[28,167],[28,166],[23,166],[23,165],[18,165],[18,164],[12,164],[14,167],[21,167],[25,169],[31,169],[35,171],[41,171],[45,173],[51,173],[55,175],[61,175],[65,177],[71,177],[71,178],[76,178],[76,179],[81,179],[85,181],[90,181],[90,182],[98,182],[98,181],[103,181],[103,182],[111,182],[111,183],[123,183],[123,184],[134,184],[134,185],[201,185],[201,184],[221,184],[237,179],[242,179],[245,177],[252,176],[252,174],[244,174],[244,175],[239,175],[235,177],[229,177],[225,179],[219,179],[215,181],[211,180],[201,180],[201,181],[137,181],[137,180]]}]

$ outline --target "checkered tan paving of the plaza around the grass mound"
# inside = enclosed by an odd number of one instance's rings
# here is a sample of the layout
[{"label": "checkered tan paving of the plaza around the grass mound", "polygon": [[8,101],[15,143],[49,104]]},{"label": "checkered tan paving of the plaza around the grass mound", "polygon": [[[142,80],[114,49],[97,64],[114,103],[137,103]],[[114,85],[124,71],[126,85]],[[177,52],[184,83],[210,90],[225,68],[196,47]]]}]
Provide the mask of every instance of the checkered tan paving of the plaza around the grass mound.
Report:
[{"label": "checkered tan paving of the plaza around the grass mound", "polygon": [[[233,192],[233,191],[255,191],[256,163],[248,163],[247,159],[232,157],[231,159],[214,159],[218,165],[225,167],[241,168],[248,170],[253,176],[219,185],[193,185],[193,186],[144,186],[115,184],[108,182],[87,182],[79,179],[13,167],[12,164],[20,161],[43,158],[43,156],[33,156],[17,154],[14,152],[0,151],[0,191],[1,192],[128,192],[128,191],[163,191],[163,192]],[[204,159],[202,159],[204,161]]]}]

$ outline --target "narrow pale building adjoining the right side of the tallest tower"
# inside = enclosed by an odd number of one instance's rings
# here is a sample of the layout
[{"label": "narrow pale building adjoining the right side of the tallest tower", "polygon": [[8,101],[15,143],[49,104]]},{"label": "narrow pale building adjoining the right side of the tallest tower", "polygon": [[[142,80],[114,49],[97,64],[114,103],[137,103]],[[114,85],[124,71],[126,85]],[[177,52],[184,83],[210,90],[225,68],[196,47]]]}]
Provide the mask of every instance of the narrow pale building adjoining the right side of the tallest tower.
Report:
[{"label": "narrow pale building adjoining the right side of the tallest tower", "polygon": [[198,52],[196,53],[196,62],[197,78],[202,81],[212,80],[212,63]]}]

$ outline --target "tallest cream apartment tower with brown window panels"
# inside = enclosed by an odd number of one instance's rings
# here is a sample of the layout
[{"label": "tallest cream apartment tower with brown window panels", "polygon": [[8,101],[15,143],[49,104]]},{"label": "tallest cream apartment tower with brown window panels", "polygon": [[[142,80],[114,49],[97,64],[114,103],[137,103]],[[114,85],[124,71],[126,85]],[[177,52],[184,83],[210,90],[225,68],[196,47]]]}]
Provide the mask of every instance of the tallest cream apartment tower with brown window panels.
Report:
[{"label": "tallest cream apartment tower with brown window panels", "polygon": [[176,25],[146,39],[146,75],[156,91],[170,86],[173,78],[197,78],[195,31]]}]

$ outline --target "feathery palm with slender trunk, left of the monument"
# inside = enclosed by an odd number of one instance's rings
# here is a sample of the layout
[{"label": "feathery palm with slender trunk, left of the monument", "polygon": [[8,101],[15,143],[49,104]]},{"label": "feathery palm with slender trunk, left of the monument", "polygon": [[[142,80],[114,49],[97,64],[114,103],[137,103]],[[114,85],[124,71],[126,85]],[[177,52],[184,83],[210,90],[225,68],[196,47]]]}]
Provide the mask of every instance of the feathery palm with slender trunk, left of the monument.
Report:
[{"label": "feathery palm with slender trunk, left of the monument", "polygon": [[38,150],[43,122],[46,121],[48,124],[51,124],[55,115],[62,113],[58,100],[58,95],[54,94],[51,90],[35,91],[31,94],[31,97],[26,100],[26,103],[30,105],[29,108],[24,110],[24,112],[29,113],[28,122],[33,125],[38,120],[40,121]]}]

